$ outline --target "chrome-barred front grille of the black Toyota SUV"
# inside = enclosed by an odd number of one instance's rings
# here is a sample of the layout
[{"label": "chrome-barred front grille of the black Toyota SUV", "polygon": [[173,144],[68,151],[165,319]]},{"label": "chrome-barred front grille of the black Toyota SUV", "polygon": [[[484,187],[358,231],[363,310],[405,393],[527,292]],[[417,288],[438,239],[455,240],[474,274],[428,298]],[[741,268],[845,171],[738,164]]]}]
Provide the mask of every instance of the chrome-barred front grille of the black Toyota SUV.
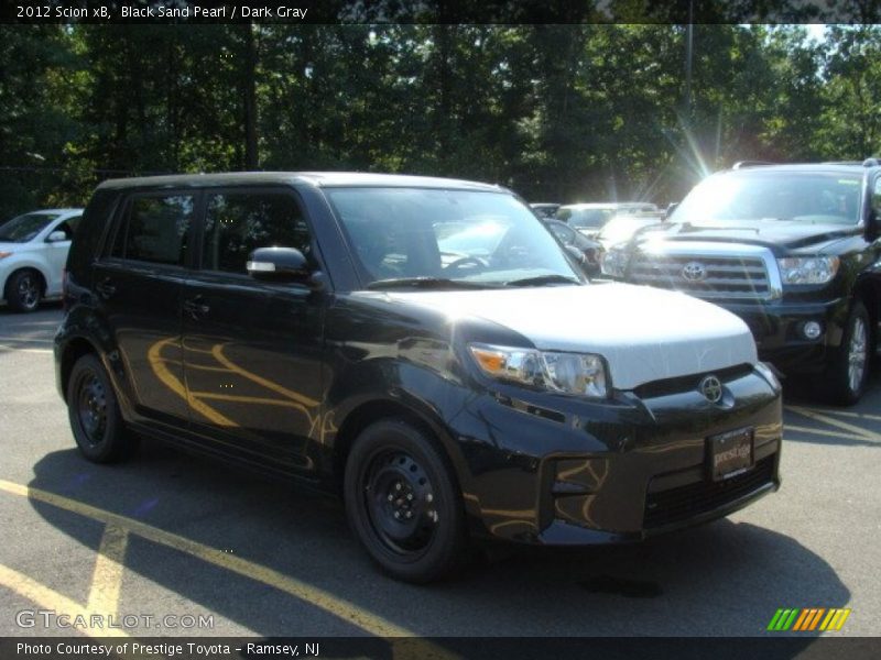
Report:
[{"label": "chrome-barred front grille of the black Toyota SUV", "polygon": [[[683,273],[689,265],[701,266],[703,276],[687,278]],[[630,264],[629,279],[698,298],[755,299],[770,298],[772,294],[768,270],[759,256],[640,252]]]}]

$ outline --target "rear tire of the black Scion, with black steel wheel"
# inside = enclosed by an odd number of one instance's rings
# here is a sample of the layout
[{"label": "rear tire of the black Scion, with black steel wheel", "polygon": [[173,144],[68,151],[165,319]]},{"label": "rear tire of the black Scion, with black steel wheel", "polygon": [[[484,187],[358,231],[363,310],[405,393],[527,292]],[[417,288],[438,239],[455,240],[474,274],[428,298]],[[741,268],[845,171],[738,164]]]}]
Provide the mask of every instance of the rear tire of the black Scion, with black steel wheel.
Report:
[{"label": "rear tire of the black Scion, with black steel wheel", "polygon": [[83,355],[70,371],[67,416],[80,453],[93,463],[126,460],[138,447],[126,432],[110,378],[96,355]]}]

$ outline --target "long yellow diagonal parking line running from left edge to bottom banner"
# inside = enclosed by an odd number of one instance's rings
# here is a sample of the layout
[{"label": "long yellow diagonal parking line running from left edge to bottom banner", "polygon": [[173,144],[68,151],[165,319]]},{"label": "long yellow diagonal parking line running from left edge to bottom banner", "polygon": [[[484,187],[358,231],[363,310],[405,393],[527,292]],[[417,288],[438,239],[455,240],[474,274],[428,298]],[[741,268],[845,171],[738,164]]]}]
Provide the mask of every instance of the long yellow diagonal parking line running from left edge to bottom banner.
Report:
[{"label": "long yellow diagonal parking line running from left edge to bottom banner", "polygon": [[[270,569],[269,566],[229,554],[222,550],[218,550],[216,548],[211,548],[210,546],[177,536],[170,531],[153,527],[152,525],[146,525],[140,520],[112,514],[88,504],[77,502],[76,499],[56,495],[55,493],[50,493],[40,488],[31,488],[29,486],[22,486],[6,480],[0,480],[0,491],[4,491],[20,497],[26,497],[32,501],[43,502],[57,508],[72,512],[80,516],[86,516],[93,520],[98,520],[100,522],[105,522],[106,525],[112,525],[126,529],[130,534],[135,534],[160,546],[185,552],[209,564],[226,569],[227,571],[237,573],[239,575],[243,575],[244,578],[260,582],[268,586],[272,586],[281,592],[300,598],[309,605],[314,605],[315,607],[318,607],[319,609],[323,609],[354,626],[357,626],[358,628],[361,628],[371,635],[376,635],[378,637],[416,636],[416,634],[412,630],[409,630],[402,626],[398,626],[390,620],[368,612],[358,605],[346,601],[345,598],[335,596],[323,588],[306,584],[305,582],[296,580],[295,578],[291,578],[274,569]],[[0,576],[0,581],[1,580],[2,576]],[[12,582],[14,583],[14,580]],[[31,583],[33,583],[33,581],[30,581],[29,584]],[[32,586],[39,587],[40,585],[33,583]],[[42,594],[42,592],[34,593]],[[73,604],[73,602],[70,602],[70,604]],[[79,609],[83,608],[79,607]],[[425,642],[425,645],[427,645],[427,642]],[[436,650],[446,653],[446,651],[439,647]]]}]

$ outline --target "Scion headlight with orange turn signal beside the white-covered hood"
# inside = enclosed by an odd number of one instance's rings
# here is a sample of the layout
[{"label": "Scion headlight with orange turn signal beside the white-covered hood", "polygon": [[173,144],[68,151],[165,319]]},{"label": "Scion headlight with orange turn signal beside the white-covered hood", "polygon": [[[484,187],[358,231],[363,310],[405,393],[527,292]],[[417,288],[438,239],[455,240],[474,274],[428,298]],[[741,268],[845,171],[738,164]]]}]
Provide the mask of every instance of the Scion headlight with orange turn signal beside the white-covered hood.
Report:
[{"label": "Scion headlight with orange turn signal beside the white-covered hood", "polygon": [[483,373],[493,378],[594,398],[605,398],[609,393],[599,355],[489,344],[470,344],[468,349]]}]

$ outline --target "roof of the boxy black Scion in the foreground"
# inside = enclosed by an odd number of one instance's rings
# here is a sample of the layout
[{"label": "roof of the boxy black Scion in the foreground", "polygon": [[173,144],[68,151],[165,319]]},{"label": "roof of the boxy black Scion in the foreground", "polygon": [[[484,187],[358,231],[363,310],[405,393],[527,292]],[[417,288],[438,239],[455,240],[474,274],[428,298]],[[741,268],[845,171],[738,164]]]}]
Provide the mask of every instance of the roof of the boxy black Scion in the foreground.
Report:
[{"label": "roof of the boxy black Scion in the foreground", "polygon": [[463,190],[508,191],[498,185],[463,179],[366,172],[227,172],[218,174],[174,174],[108,179],[99,189],[200,187],[228,185],[307,184],[315,187],[369,186],[401,188],[454,188]]}]

